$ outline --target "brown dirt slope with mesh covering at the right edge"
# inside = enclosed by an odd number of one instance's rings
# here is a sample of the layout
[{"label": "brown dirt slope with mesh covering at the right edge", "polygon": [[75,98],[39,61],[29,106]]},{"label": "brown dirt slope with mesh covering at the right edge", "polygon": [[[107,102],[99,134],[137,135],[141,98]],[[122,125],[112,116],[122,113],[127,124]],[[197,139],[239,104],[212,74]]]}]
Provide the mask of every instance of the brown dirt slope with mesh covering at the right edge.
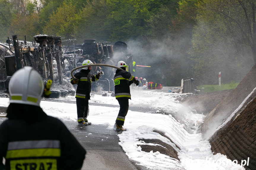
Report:
[{"label": "brown dirt slope with mesh covering at the right edge", "polygon": [[[239,164],[241,160],[249,158],[249,165],[245,168],[251,170],[256,169],[255,75],[256,65],[236,89],[206,116],[202,125],[202,135],[209,139],[215,154],[226,155],[232,161],[237,160]],[[213,133],[232,113],[232,119]]]}]

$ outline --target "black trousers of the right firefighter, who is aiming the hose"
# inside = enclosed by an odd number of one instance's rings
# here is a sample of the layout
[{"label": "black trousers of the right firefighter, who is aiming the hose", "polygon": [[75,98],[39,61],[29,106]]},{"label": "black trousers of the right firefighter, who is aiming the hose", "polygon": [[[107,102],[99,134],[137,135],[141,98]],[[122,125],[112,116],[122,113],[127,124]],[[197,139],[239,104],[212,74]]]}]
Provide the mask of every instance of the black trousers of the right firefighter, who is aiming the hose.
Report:
[{"label": "black trousers of the right firefighter, who is aiming the hose", "polygon": [[120,109],[116,119],[116,124],[123,126],[125,122],[125,116],[127,115],[129,109],[129,98],[120,98],[117,99],[117,101],[119,103]]}]

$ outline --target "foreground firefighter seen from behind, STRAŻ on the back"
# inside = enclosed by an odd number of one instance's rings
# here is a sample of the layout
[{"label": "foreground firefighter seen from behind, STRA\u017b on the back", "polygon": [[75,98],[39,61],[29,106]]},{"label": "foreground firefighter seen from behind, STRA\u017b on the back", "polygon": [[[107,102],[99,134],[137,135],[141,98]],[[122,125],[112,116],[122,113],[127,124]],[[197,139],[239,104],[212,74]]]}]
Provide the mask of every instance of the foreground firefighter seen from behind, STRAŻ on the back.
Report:
[{"label": "foreground firefighter seen from behind, STRA\u017b on the back", "polygon": [[43,90],[32,67],[12,76],[8,119],[0,125],[0,169],[81,169],[86,151],[59,119],[39,106]]}]

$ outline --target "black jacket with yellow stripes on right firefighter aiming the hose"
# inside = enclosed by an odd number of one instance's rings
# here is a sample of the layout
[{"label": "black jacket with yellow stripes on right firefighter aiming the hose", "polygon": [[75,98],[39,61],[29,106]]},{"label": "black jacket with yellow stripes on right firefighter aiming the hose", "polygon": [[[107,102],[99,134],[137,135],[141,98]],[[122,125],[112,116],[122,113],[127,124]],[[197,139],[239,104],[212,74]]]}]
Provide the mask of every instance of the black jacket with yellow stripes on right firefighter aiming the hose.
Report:
[{"label": "black jacket with yellow stripes on right firefighter aiming the hose", "polygon": [[117,69],[115,77],[114,77],[116,99],[118,99],[118,98],[131,99],[129,81],[133,80],[133,78],[134,77],[133,77],[133,75],[131,75],[130,72]]}]

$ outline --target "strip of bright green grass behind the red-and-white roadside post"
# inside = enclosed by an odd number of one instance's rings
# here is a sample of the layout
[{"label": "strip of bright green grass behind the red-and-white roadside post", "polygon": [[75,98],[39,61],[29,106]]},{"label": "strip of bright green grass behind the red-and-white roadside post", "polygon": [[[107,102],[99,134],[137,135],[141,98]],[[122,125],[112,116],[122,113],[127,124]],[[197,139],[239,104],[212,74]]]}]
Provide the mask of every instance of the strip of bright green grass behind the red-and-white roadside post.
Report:
[{"label": "strip of bright green grass behind the red-and-white roadside post", "polygon": [[202,91],[203,93],[208,93],[208,92],[214,92],[214,91],[220,91],[220,90],[235,89],[238,84],[239,83],[231,82],[230,84],[222,84],[221,86],[219,86],[219,85],[200,85],[197,87],[197,89]]}]

